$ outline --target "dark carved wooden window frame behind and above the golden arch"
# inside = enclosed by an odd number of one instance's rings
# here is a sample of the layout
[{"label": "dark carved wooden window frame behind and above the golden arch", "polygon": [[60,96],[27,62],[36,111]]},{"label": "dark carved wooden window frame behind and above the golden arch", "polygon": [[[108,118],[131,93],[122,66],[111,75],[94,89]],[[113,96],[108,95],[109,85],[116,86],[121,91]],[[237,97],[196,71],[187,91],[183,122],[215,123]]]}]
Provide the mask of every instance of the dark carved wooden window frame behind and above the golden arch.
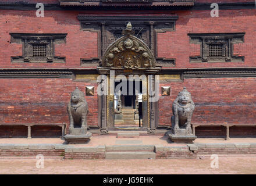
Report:
[{"label": "dark carved wooden window frame behind and above the golden arch", "polygon": [[[166,31],[175,31],[175,23],[178,19],[177,15],[172,16],[87,16],[79,15],[77,19],[80,21],[80,29],[84,31],[98,33],[98,57],[91,59],[81,59],[81,66],[98,66],[99,61],[106,48],[111,45],[115,38],[115,34],[122,33],[126,24],[131,22],[135,30],[142,40],[150,47],[157,61],[157,66],[175,66],[175,59],[158,58],[157,51],[157,33],[165,33]],[[141,28],[143,28],[141,30]],[[140,38],[140,37],[138,37]]]}]

